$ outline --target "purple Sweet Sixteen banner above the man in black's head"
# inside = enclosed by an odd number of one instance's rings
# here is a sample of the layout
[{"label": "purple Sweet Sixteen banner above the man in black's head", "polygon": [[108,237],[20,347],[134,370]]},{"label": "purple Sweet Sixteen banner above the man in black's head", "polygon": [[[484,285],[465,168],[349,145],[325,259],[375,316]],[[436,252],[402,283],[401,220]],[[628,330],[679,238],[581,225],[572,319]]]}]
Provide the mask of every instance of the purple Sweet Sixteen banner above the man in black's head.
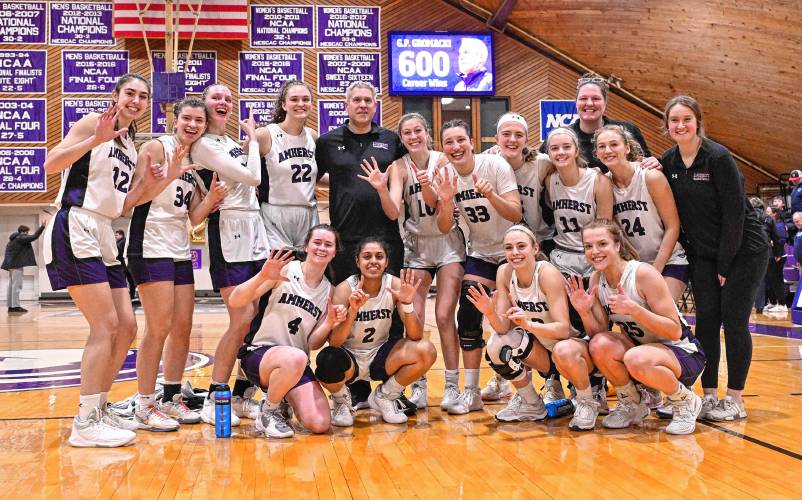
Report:
[{"label": "purple Sweet Sixteen banner above the man in black's head", "polygon": [[378,52],[318,52],[318,94],[345,94],[353,82],[369,82],[381,93]]}]

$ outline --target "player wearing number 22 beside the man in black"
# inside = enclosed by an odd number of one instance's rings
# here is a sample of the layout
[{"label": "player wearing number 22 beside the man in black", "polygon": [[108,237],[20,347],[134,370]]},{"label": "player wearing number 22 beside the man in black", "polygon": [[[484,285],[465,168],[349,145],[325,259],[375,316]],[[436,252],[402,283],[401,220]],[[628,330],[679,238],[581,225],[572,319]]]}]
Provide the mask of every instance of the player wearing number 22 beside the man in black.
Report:
[{"label": "player wearing number 22 beside the man in black", "polygon": [[259,201],[267,247],[301,250],[309,228],[317,225],[317,134],[306,126],[312,91],[298,80],[281,85],[272,123],[256,130],[265,162]]}]

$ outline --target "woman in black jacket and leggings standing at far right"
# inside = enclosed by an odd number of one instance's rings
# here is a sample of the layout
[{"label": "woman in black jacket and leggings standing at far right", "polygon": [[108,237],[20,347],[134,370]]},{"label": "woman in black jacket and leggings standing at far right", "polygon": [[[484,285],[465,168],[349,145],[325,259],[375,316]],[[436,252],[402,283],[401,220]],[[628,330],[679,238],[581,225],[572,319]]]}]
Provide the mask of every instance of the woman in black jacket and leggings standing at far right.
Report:
[{"label": "woman in black jacket and leggings standing at far right", "polygon": [[[746,418],[741,394],[752,363],[749,315],[768,265],[768,239],[744,195],[744,176],[724,146],[704,135],[702,109],[690,96],[668,101],[665,126],[677,143],[663,164],[691,264],[696,335],[707,354],[702,417]],[[727,349],[727,393],[718,399],[720,332]]]}]

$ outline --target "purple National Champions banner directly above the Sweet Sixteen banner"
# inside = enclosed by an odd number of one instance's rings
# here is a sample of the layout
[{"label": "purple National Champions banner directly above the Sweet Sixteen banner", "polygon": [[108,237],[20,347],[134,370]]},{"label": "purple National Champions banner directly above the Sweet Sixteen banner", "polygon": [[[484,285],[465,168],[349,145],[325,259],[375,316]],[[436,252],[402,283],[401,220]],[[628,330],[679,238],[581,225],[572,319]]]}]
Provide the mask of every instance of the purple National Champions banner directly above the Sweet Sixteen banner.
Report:
[{"label": "purple National Champions banner directly above the Sweet Sixteen banner", "polygon": [[380,49],[380,7],[317,7],[317,46],[321,49]]}]

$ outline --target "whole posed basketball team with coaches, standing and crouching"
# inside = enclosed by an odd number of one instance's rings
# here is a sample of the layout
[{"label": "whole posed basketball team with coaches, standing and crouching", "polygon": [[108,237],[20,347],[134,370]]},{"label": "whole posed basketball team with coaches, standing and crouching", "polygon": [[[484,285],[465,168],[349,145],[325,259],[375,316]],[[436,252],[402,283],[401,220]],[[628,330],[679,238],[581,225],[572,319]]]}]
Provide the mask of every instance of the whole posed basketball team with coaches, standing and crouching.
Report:
[{"label": "whole posed basketball team with coaches, standing and crouching", "polygon": [[[227,133],[231,91],[215,84],[177,103],[172,133],[137,151],[151,88],[122,76],[112,106],[81,118],[45,162],[61,173],[48,276],[90,332],[69,444],[124,446],[137,431],[214,425],[232,374],[231,425],[252,419],[269,438],[353,426],[367,408],[406,425],[430,403],[433,282],[445,386],[431,403],[444,413],[503,398],[492,418],[539,421],[567,405],[566,425],[580,432],[640,425],[654,410],[670,434],[693,433],[697,419],[746,418],[748,319],[769,247],[743,175],[705,137],[692,97],[666,104],[675,145],[657,157],[637,126],[604,115],[607,93],[603,78],[583,75],[570,127],[532,149],[526,119],[506,113],[496,145],[480,153],[461,120],[440,127],[442,152],[420,114],[395,131],[377,126],[376,91],[363,82],[348,88],[345,124],[318,137],[306,126],[311,89],[289,80],[271,123],[239,122],[240,143]],[[318,183],[329,186],[331,224],[318,220]],[[112,228],[123,215],[145,323],[127,414],[108,401],[137,335]],[[228,327],[208,393],[187,393],[189,229],[203,221]],[[695,333],[676,305],[689,282]],[[480,388],[483,363],[495,376]]]}]

